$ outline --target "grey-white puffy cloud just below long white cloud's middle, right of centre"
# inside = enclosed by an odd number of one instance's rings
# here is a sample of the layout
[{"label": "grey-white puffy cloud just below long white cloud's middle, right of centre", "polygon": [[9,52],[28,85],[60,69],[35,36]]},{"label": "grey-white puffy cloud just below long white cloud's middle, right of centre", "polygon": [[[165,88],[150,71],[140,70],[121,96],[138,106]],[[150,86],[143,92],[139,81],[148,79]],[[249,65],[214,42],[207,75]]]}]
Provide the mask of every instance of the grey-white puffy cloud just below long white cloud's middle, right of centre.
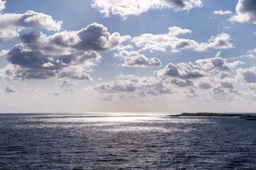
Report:
[{"label": "grey-white puffy cloud just below long white cloud's middle, right of centre", "polygon": [[180,79],[197,79],[204,77],[204,75],[205,72],[199,66],[184,62],[177,65],[169,63],[165,69],[155,72],[156,77],[177,77]]}]

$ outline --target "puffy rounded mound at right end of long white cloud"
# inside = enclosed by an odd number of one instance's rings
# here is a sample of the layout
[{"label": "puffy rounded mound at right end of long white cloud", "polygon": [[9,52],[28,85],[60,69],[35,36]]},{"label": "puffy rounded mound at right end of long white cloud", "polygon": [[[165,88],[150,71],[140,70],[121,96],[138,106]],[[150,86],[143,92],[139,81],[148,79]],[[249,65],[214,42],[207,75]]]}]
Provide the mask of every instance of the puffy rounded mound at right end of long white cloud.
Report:
[{"label": "puffy rounded mound at right end of long white cloud", "polygon": [[230,35],[228,35],[227,33],[218,34],[216,37],[212,36],[209,40],[208,47],[214,49],[232,48],[233,44],[228,42],[228,40],[230,40]]}]

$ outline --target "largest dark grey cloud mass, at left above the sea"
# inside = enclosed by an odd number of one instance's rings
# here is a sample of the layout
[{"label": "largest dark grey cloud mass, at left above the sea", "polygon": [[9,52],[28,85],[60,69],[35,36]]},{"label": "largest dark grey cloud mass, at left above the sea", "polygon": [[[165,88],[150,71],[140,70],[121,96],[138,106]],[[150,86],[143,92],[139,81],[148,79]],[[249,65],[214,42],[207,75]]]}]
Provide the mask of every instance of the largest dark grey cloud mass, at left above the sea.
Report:
[{"label": "largest dark grey cloud mass, at left above the sea", "polygon": [[0,76],[9,77],[7,79],[92,80],[84,68],[101,60],[98,52],[112,50],[127,38],[119,33],[108,33],[107,28],[98,23],[50,36],[26,33],[20,35],[21,44],[1,52],[1,57],[12,67],[1,69]]}]

